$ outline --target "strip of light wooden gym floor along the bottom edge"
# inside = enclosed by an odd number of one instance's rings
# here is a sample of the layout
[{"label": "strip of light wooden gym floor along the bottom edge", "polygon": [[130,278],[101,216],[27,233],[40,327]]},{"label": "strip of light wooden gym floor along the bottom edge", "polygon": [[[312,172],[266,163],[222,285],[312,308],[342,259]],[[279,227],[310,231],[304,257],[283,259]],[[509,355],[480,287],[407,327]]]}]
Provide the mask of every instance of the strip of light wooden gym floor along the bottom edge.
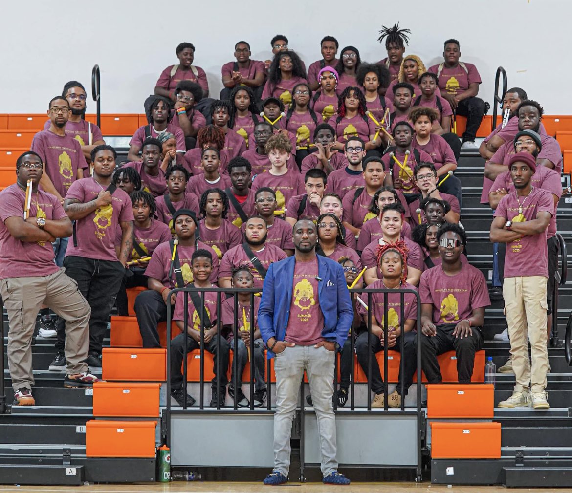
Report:
[{"label": "strip of light wooden gym floor along the bottom edge", "polygon": [[531,492],[531,491],[565,491],[562,489],[510,489],[501,486],[432,486],[430,483],[355,483],[348,487],[325,486],[321,483],[286,483],[282,486],[269,487],[261,482],[257,483],[215,483],[215,482],[173,482],[173,483],[153,483],[153,484],[89,484],[85,486],[0,486],[0,493],[163,493],[163,492],[185,492],[185,493],[273,493],[273,492],[320,492],[336,491],[339,493],[358,492],[429,492],[429,493],[472,493],[472,492]]}]

